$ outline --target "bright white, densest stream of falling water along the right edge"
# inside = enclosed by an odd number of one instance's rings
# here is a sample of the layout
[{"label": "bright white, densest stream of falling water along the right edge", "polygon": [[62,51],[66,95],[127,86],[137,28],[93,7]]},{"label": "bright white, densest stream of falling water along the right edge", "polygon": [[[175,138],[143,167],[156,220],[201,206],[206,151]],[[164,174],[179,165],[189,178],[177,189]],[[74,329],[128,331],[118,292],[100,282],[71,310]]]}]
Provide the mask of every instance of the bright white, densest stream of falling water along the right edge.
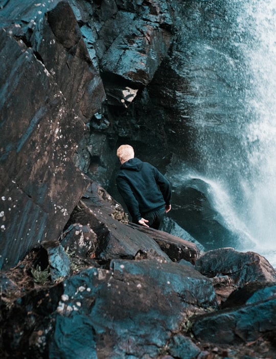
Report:
[{"label": "bright white, densest stream of falling water along the right edge", "polygon": [[[241,14],[251,34],[244,51],[251,69],[245,128],[251,182],[241,179],[247,211],[245,223],[259,244],[259,251],[276,252],[276,1],[255,0]],[[248,26],[249,25],[249,26]],[[276,262],[276,259],[274,259]]]}]

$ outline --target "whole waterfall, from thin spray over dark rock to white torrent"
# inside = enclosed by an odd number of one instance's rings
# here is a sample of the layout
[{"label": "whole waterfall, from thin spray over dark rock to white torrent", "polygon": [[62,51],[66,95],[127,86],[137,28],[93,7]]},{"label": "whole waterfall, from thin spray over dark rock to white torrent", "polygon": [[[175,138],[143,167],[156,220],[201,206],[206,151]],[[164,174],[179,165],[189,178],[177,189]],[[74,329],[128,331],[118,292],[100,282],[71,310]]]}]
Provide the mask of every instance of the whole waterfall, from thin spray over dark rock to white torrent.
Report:
[{"label": "whole waterfall, from thin spray over dark rock to white torrent", "polygon": [[276,264],[276,1],[183,8],[182,66],[190,70],[181,102],[196,131],[193,175],[227,197],[223,210],[214,199],[226,221]]}]

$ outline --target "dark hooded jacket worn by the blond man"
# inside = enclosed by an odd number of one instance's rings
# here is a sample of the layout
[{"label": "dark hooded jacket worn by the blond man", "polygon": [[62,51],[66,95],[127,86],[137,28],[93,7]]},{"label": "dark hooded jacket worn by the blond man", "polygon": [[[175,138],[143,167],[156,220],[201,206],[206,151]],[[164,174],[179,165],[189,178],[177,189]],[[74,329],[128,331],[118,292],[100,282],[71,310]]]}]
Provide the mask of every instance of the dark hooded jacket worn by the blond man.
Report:
[{"label": "dark hooded jacket worn by the blond man", "polygon": [[134,223],[138,223],[143,214],[171,204],[170,182],[154,166],[139,158],[123,163],[116,181]]}]

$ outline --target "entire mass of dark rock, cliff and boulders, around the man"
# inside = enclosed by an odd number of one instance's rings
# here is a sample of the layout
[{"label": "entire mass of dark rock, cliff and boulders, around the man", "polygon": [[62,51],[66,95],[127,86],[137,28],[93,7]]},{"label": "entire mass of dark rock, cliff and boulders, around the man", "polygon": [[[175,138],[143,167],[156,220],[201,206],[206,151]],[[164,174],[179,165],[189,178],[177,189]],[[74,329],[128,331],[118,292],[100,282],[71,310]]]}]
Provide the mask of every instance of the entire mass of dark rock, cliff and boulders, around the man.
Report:
[{"label": "entire mass of dark rock, cliff and boulders, around the man", "polygon": [[201,252],[219,247],[213,233],[236,241],[206,184],[174,191],[195,239],[170,220],[170,234],[145,232],[112,198],[121,143],[163,172],[195,155],[177,61],[185,11],[180,0],[0,2],[3,357],[210,359],[251,355],[244,346],[273,357],[275,271],[256,253]]}]

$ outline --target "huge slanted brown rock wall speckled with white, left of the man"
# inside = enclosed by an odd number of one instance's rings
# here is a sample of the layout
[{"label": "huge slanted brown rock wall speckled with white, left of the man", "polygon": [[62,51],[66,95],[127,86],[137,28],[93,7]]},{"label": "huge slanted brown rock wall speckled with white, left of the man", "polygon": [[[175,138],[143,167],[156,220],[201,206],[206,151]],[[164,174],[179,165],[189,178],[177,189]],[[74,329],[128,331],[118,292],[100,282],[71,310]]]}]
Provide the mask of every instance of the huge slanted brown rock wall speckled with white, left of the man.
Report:
[{"label": "huge slanted brown rock wall speckled with white, left of the man", "polygon": [[105,93],[67,2],[6,2],[0,15],[0,268],[9,268],[57,239],[83,194],[76,156]]}]

